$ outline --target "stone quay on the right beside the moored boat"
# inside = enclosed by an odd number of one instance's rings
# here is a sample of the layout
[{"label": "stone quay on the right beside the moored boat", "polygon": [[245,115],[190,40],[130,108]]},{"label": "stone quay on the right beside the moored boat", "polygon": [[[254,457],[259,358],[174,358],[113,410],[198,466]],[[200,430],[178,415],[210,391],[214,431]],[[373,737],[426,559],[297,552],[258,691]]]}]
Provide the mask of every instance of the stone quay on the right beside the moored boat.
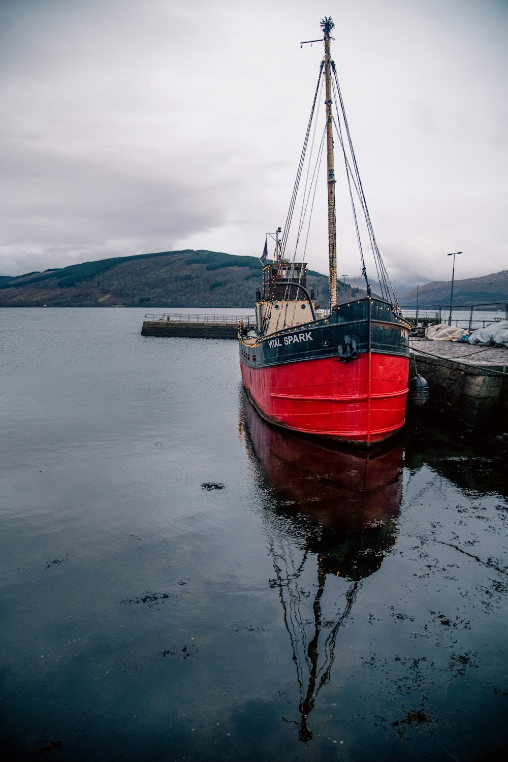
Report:
[{"label": "stone quay on the right beside the moored boat", "polygon": [[426,415],[464,433],[508,431],[508,349],[459,341],[411,339],[410,377],[427,379]]}]

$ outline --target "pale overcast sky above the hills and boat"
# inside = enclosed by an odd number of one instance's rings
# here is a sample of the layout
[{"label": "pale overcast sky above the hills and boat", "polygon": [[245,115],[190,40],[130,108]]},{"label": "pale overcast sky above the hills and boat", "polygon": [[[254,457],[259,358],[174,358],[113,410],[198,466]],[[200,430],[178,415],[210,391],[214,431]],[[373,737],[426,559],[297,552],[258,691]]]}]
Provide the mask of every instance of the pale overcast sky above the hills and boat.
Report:
[{"label": "pale overcast sky above the hills and boat", "polygon": [[[0,0],[0,274],[260,255],[322,58],[299,43],[325,14],[392,280],[450,280],[449,251],[457,279],[508,268],[506,0]],[[326,272],[324,195],[315,209],[307,261]],[[351,279],[342,218],[337,235]]]}]

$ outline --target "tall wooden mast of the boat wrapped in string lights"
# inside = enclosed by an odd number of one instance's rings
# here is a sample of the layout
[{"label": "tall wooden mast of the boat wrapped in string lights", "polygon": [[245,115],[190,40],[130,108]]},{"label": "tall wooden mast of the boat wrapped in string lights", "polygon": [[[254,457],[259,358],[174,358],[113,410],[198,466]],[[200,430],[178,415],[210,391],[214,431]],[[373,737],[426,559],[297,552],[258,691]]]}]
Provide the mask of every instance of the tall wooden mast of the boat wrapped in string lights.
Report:
[{"label": "tall wooden mast of the boat wrapped in string lights", "polygon": [[326,90],[326,135],[327,135],[327,185],[328,185],[328,293],[330,310],[337,304],[337,240],[335,234],[335,170],[334,136],[331,112],[331,30],[335,24],[331,16],[324,17],[321,29],[324,32],[324,82]]}]

